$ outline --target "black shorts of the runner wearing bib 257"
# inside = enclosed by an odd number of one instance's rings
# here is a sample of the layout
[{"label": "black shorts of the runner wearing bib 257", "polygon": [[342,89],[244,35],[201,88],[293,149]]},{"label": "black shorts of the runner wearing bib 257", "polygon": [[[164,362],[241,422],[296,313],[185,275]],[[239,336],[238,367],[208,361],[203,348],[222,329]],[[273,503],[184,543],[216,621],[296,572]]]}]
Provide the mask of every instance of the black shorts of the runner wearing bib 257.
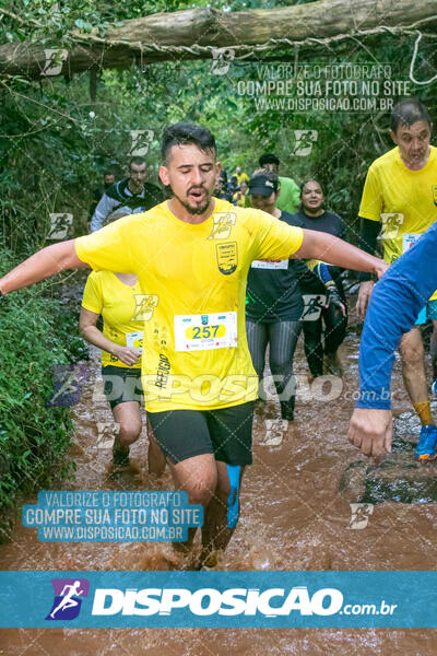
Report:
[{"label": "black shorts of the runner wearing bib 257", "polygon": [[251,465],[253,401],[217,410],[147,412],[165,456],[176,465],[214,454],[227,465]]}]

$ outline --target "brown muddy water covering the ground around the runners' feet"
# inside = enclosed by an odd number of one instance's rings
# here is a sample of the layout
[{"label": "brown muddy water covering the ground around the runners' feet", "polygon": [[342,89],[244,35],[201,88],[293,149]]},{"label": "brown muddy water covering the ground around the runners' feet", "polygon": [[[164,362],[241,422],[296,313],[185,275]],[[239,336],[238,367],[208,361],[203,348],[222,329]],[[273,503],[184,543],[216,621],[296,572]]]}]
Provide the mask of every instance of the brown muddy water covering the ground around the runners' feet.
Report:
[{"label": "brown muddy water covering the ground around the runners' feet", "polygon": [[[280,417],[275,400],[258,406],[241,518],[218,570],[436,569],[437,464],[414,461],[418,422],[403,393],[399,362],[393,454],[375,467],[346,442],[352,393],[357,389],[357,344],[352,329],[341,349],[345,375],[338,398],[329,400],[329,385],[324,398],[320,389],[314,388],[312,395],[307,389],[297,401],[295,421],[285,430],[274,421]],[[302,343],[295,363],[296,373],[306,377]],[[92,386],[74,417],[70,455],[78,470],[64,489],[173,489],[168,472],[161,480],[146,473],[145,429],[132,447],[132,467],[111,473],[110,449],[97,448],[97,423],[111,422],[111,414],[106,401],[93,400]],[[26,502],[35,503],[36,497]],[[371,504],[359,529],[350,505],[356,502]],[[0,564],[2,570],[160,571],[178,569],[179,561],[169,544],[42,543],[36,530],[17,522],[13,540],[0,547]],[[427,656],[437,653],[436,639],[432,630],[34,629],[1,631],[0,654]]]}]

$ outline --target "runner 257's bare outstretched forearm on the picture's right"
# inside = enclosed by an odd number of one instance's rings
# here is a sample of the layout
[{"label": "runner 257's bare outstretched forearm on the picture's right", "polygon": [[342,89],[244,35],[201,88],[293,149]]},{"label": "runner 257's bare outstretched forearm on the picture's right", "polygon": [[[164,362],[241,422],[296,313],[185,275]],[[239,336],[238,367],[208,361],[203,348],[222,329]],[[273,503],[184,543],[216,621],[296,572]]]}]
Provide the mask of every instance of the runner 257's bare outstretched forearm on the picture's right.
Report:
[{"label": "runner 257's bare outstretched forearm on the picture's right", "polygon": [[388,269],[388,265],[378,257],[328,233],[314,230],[304,230],[304,242],[292,257],[318,259],[344,269],[377,273],[378,278]]}]

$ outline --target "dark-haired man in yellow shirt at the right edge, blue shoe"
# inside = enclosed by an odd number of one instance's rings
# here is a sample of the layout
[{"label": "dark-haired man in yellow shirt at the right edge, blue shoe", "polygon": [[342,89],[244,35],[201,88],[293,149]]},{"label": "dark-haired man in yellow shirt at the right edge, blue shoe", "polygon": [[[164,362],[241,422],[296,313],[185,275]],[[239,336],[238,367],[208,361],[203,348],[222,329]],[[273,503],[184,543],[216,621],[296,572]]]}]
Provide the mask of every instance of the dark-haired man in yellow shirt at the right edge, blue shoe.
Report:
[{"label": "dark-haired man in yellow shirt at the right edge, blue shoe", "polygon": [[[383,258],[392,263],[437,220],[437,149],[430,145],[433,124],[428,110],[414,98],[398,103],[391,113],[390,136],[395,148],[375,160],[367,173],[359,216],[361,246],[374,253],[382,229]],[[357,311],[364,318],[374,283],[362,274]],[[420,325],[434,321],[432,351],[436,353],[437,294],[420,313],[415,327],[402,337],[399,351],[402,375],[422,430],[416,458],[436,457],[435,426],[425,374],[424,347]]]}]

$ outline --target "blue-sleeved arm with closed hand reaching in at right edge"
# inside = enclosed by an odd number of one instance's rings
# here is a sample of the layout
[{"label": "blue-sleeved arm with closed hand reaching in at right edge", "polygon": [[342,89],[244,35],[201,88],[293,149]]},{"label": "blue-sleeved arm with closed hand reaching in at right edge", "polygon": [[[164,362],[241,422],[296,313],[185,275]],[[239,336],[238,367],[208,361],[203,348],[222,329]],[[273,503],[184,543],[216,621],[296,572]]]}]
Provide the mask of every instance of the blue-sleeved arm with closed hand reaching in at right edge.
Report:
[{"label": "blue-sleeved arm with closed hand reaching in at right edge", "polygon": [[[391,450],[390,378],[394,351],[437,286],[437,223],[400,257],[375,286],[359,347],[359,399],[349,441],[366,456]],[[420,460],[436,457],[436,444],[416,450]]]}]

